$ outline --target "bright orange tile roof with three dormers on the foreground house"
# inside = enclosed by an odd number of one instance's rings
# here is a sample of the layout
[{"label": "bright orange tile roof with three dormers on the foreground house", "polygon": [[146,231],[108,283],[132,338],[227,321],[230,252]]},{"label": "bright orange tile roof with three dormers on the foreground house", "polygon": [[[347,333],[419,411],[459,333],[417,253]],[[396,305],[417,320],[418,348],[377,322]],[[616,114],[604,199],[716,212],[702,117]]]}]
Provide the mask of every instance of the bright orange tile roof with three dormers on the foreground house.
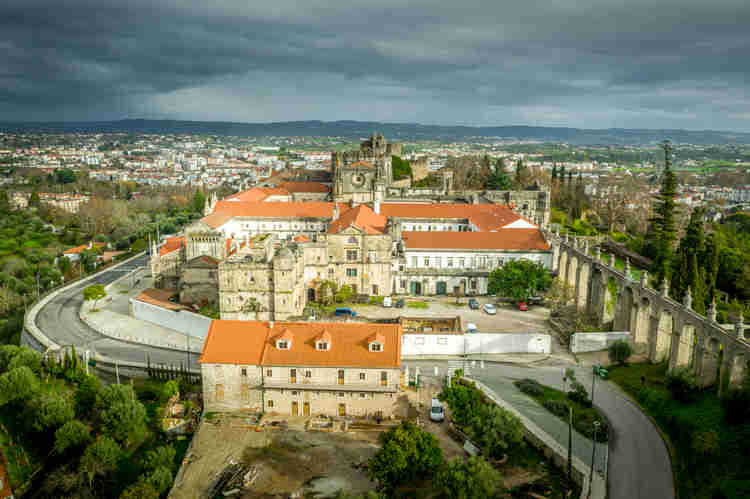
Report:
[{"label": "bright orange tile roof with three dormers on the foreground house", "polygon": [[[398,324],[318,323],[214,320],[203,345],[201,363],[264,366],[398,368],[401,326]],[[328,333],[327,351],[315,340]],[[291,335],[289,350],[276,348],[279,335]],[[369,339],[382,336],[383,351],[371,352]]]}]

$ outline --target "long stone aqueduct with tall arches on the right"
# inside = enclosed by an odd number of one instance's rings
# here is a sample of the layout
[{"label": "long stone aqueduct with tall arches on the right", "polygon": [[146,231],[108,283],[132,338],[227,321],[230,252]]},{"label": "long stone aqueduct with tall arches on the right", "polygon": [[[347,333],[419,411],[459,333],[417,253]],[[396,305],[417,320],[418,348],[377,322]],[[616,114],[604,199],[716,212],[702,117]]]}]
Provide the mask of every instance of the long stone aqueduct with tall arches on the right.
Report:
[{"label": "long stone aqueduct with tall arches on the right", "polygon": [[670,370],[687,366],[703,386],[721,380],[721,390],[724,381],[742,382],[750,360],[742,320],[733,329],[722,328],[714,306],[702,316],[692,310],[690,296],[678,303],[667,296],[665,285],[659,291],[649,288],[646,272],[633,280],[629,264],[616,269],[614,256],[604,262],[599,248],[590,251],[585,239],[547,236],[552,270],[574,290],[576,306],[599,325],[611,322],[613,331],[629,331],[634,352],[647,354],[651,362],[667,360]]}]

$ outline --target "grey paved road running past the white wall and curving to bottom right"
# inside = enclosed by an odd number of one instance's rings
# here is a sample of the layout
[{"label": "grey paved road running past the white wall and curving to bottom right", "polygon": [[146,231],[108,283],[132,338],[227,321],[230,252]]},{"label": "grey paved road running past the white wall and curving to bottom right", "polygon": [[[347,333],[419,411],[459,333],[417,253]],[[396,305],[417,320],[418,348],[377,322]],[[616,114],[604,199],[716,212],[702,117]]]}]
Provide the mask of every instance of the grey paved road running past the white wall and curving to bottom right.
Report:
[{"label": "grey paved road running past the white wall and curving to bottom right", "polygon": [[[431,372],[432,366],[444,368],[445,362],[407,362]],[[502,380],[532,378],[542,384],[563,389],[564,367],[536,367],[487,363],[484,370],[471,369],[471,375],[488,386]],[[576,375],[588,390],[589,369],[576,368]],[[490,386],[492,388],[492,386]],[[509,401],[510,402],[510,401]],[[594,404],[607,416],[612,428],[609,442],[609,497],[612,499],[673,499],[674,482],[669,453],[656,427],[615,385],[597,380]],[[590,457],[586,462],[590,461]]]}]

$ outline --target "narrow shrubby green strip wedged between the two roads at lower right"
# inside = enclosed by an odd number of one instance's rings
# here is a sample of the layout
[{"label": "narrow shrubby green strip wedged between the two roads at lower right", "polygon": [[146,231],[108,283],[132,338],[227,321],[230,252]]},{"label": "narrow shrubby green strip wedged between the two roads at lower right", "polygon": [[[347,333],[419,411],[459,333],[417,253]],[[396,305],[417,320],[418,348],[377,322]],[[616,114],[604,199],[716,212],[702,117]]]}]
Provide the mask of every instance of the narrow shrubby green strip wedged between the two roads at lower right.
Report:
[{"label": "narrow shrubby green strip wedged between the two roads at lower right", "polygon": [[594,421],[599,421],[602,426],[596,433],[596,441],[606,442],[609,440],[607,418],[596,407],[589,407],[571,400],[562,390],[542,385],[532,379],[522,379],[513,384],[565,423],[568,422],[569,418],[568,407],[572,407],[573,428],[588,439],[594,436]]}]

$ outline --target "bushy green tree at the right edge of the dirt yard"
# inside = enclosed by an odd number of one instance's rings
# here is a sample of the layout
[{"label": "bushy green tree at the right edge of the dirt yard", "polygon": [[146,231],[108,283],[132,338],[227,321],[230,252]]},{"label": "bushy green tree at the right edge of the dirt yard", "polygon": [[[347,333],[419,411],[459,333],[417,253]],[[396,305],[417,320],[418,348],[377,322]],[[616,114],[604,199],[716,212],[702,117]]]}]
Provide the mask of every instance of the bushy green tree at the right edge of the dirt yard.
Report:
[{"label": "bushy green tree at the right edge of the dirt yard", "polygon": [[382,433],[380,445],[369,461],[368,473],[386,490],[430,478],[444,462],[437,437],[410,421]]}]

